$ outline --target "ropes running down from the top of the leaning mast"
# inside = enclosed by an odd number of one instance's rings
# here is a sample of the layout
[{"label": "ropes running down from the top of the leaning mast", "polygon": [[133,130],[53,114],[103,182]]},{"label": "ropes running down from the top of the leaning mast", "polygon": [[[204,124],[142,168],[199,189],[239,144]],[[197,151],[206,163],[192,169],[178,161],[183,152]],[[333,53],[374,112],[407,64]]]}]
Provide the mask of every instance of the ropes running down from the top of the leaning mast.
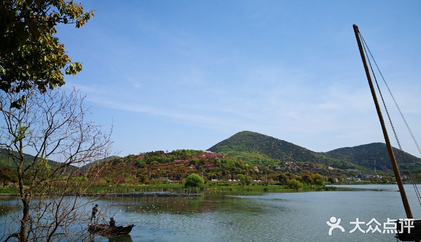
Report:
[{"label": "ropes running down from the top of the leaning mast", "polygon": [[[404,163],[405,163],[406,169],[408,170],[409,178],[410,178],[410,180],[411,180],[412,186],[414,187],[415,193],[416,193],[417,198],[418,198],[418,202],[419,202],[419,204],[421,205],[421,195],[420,195],[420,192],[418,191],[418,188],[417,188],[417,186],[416,186],[416,184],[415,184],[415,181],[414,181],[414,179],[413,179],[412,172],[411,172],[411,170],[410,170],[410,168],[409,168],[409,165],[408,165],[408,161],[406,160],[405,154],[403,153],[403,150],[402,150],[402,146],[400,145],[399,139],[397,138],[397,134],[396,134],[396,131],[395,131],[395,129],[394,129],[394,126],[393,126],[393,123],[392,123],[392,119],[390,118],[389,111],[387,110],[386,103],[385,103],[384,98],[383,98],[383,95],[382,95],[382,93],[381,93],[380,86],[378,85],[377,78],[376,78],[376,74],[374,73],[373,66],[371,65],[371,61],[370,61],[370,58],[369,58],[369,56],[368,56],[368,53],[370,53],[371,59],[373,59],[373,62],[376,64],[377,70],[378,70],[378,72],[380,73],[381,78],[383,79],[384,84],[386,85],[387,89],[389,90],[389,94],[390,94],[390,96],[392,96],[393,101],[394,101],[394,104],[396,105],[397,109],[399,110],[399,113],[400,113],[400,115],[401,115],[401,117],[402,117],[403,121],[405,122],[405,125],[406,125],[406,127],[407,127],[407,129],[408,129],[408,131],[409,131],[409,133],[410,133],[410,135],[411,135],[411,137],[412,137],[412,139],[413,139],[414,143],[416,144],[416,147],[417,147],[417,149],[418,149],[418,152],[420,152],[420,154],[421,154],[421,149],[420,149],[420,147],[418,146],[418,143],[417,143],[417,141],[415,140],[415,137],[413,136],[413,133],[411,132],[411,130],[410,130],[409,126],[408,126],[408,123],[407,123],[407,122],[406,122],[406,120],[405,120],[405,117],[403,117],[403,114],[402,114],[402,112],[401,112],[401,110],[400,110],[399,106],[397,105],[397,102],[396,102],[396,100],[394,99],[394,96],[392,95],[392,91],[390,90],[389,86],[387,85],[386,80],[385,80],[385,79],[384,79],[384,77],[383,77],[383,74],[381,74],[381,71],[380,71],[380,69],[378,68],[378,65],[377,65],[377,63],[376,63],[376,60],[374,59],[373,55],[371,54],[371,51],[370,51],[370,49],[368,48],[367,43],[365,43],[365,40],[364,40],[364,38],[362,37],[361,32],[359,32],[359,35],[360,35],[360,38],[362,39],[362,47],[364,48],[365,55],[367,56],[368,63],[370,64],[370,69],[371,69],[371,72],[373,73],[374,80],[376,81],[376,85],[377,85],[377,89],[378,89],[378,92],[379,92],[380,97],[381,97],[381,101],[383,102],[384,109],[386,110],[387,117],[389,118],[390,125],[392,126],[393,134],[394,134],[394,136],[395,136],[395,138],[396,138],[396,141],[397,141],[397,144],[398,144],[398,146],[399,146],[400,153],[401,153],[402,158],[403,158],[403,160],[404,160]],[[366,48],[367,48],[367,50],[368,50],[368,53],[367,53]]]}]

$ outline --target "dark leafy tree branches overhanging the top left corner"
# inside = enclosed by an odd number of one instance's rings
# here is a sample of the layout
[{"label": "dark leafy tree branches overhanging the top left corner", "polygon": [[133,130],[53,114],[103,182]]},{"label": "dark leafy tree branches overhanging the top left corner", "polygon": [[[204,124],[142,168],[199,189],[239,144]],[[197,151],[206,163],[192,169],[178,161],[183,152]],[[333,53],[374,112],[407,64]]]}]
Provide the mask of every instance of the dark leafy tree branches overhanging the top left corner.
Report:
[{"label": "dark leafy tree branches overhanging the top left corner", "polygon": [[[56,37],[58,24],[82,27],[93,10],[72,0],[2,0],[0,3],[0,90],[21,93],[36,88],[41,93],[64,85],[64,73],[82,70],[72,62]],[[11,105],[21,108],[24,93]]]}]

